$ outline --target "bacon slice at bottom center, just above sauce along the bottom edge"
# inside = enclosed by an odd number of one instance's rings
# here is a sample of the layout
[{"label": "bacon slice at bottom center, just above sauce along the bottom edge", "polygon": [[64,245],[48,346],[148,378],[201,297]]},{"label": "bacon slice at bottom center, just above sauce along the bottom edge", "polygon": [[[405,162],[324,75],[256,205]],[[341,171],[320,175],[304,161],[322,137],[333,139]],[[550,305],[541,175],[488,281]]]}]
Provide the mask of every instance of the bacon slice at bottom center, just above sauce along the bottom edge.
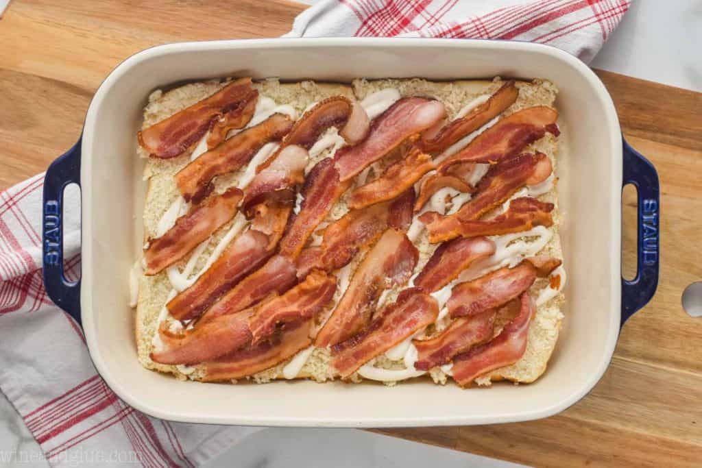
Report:
[{"label": "bacon slice at bottom center, just above sauce along the bottom edge", "polygon": [[409,288],[385,307],[366,330],[333,347],[331,365],[341,377],[349,377],[364,363],[413,335],[439,315],[439,305],[420,288]]}]

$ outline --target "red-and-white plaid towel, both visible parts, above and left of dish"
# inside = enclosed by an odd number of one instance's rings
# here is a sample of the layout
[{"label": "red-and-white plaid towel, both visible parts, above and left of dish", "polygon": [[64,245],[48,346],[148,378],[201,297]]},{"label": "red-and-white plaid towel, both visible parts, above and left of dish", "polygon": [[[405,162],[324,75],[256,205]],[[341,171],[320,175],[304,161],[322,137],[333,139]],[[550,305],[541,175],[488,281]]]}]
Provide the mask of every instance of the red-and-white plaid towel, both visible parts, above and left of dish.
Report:
[{"label": "red-and-white plaid towel, both visible parts, above and left of dish", "polygon": [[[438,36],[538,41],[590,60],[628,0],[326,0],[287,36]],[[147,417],[95,373],[83,335],[41,280],[44,175],[0,192],[0,389],[47,460],[194,467],[256,429]],[[71,216],[72,215],[72,216]],[[69,277],[80,271],[77,213],[67,218]],[[125,272],[126,274],[126,272]]]}]

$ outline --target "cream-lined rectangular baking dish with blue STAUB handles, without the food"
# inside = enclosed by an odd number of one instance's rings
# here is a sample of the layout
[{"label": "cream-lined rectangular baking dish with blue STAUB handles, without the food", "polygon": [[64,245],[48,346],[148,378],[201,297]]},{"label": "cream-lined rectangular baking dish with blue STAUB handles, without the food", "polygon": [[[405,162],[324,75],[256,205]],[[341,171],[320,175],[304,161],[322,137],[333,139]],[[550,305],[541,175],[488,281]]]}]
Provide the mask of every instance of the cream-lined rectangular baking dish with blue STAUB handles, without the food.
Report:
[{"label": "cream-lined rectangular baking dish with blue STAUB handles, without the food", "polygon": [[[218,76],[466,79],[542,77],[560,88],[557,175],[569,281],[566,319],[550,368],[531,385],[463,390],[383,385],[213,385],[145,370],[135,355],[128,270],[142,246],[145,182],[135,135],[154,88]],[[64,187],[81,185],[82,278],[62,276]],[[638,272],[621,278],[621,189],[638,189]],[[582,62],[556,48],[452,39],[262,39],[169,44],[133,55],[107,76],[88,108],[81,140],[44,185],[44,281],[82,321],[98,372],[126,403],[168,420],[312,427],[397,427],[515,422],[558,413],[607,368],[619,328],[654,294],[658,279],[658,177],[623,142],[611,98]]]}]

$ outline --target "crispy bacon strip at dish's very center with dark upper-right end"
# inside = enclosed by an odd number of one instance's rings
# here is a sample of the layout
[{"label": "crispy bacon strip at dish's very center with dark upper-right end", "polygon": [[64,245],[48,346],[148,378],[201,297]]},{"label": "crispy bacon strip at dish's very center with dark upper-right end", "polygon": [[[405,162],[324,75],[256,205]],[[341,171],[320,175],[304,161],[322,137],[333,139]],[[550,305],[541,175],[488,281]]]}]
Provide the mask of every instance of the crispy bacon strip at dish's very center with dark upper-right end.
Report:
[{"label": "crispy bacon strip at dish's very center with dark upper-right end", "polygon": [[308,247],[298,258],[298,277],[313,268],[333,272],[344,267],[364,246],[378,240],[385,229],[406,230],[412,222],[413,189],[394,201],[351,210],[324,230],[322,246]]}]

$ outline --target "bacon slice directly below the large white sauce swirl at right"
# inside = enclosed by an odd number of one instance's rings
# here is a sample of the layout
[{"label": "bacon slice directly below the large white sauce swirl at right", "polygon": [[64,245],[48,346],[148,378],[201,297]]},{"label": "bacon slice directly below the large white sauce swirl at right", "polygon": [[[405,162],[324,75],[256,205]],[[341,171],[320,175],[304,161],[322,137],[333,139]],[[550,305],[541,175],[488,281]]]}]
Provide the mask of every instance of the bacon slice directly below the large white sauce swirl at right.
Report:
[{"label": "bacon slice directly below the large white sauce swirl at right", "polygon": [[531,288],[534,280],[536,269],[529,262],[522,262],[514,268],[501,268],[454,286],[446,307],[449,307],[451,317],[479,314],[510,302]]}]

